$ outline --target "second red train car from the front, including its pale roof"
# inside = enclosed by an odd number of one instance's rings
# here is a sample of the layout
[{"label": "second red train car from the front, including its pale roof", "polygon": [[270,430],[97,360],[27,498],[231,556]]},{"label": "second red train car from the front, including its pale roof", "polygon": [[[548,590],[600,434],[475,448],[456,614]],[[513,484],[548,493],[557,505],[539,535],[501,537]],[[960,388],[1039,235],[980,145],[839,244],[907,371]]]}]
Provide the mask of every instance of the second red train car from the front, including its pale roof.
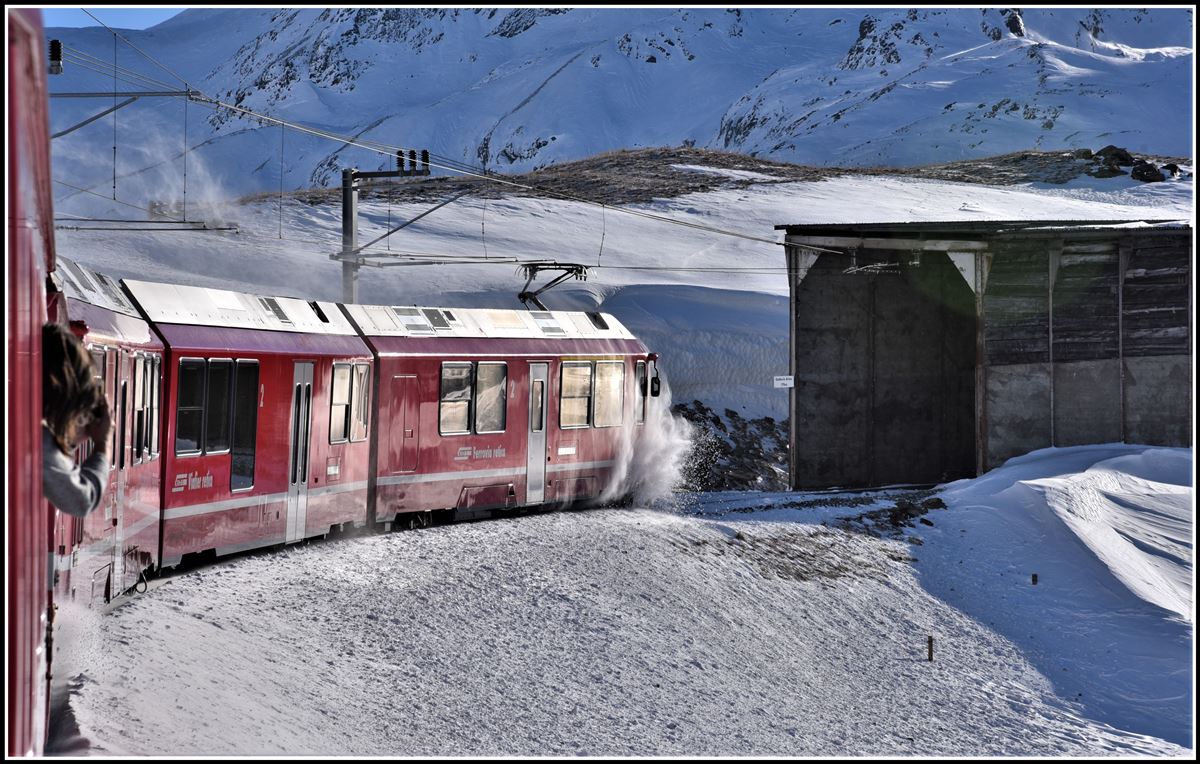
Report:
[{"label": "second red train car from the front, including its pale roof", "polygon": [[124,283],[167,348],[164,566],[366,522],[372,360],[335,303]]}]

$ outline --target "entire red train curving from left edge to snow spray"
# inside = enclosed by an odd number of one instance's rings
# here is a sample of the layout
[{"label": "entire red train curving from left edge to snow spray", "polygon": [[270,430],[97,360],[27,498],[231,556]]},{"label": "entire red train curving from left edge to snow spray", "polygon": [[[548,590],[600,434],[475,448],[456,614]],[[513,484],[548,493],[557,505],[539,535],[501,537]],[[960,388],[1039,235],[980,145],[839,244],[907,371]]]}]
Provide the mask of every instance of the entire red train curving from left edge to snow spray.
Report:
[{"label": "entire red train curving from left edge to snow spray", "polygon": [[[42,750],[54,597],[107,602],[192,554],[618,488],[659,380],[611,315],[118,283],[55,259],[37,12],[8,30],[8,754]],[[86,344],[114,413],[83,519],[41,492],[46,320]]]}]

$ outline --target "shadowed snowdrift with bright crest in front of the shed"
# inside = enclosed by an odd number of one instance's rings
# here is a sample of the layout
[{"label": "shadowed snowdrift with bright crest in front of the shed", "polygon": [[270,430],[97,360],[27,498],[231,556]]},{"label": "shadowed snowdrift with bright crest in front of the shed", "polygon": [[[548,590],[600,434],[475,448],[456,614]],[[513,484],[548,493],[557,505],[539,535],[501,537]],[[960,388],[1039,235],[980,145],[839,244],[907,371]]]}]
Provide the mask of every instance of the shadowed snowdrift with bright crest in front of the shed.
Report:
[{"label": "shadowed snowdrift with bright crest in front of the shed", "polygon": [[[1194,455],[1044,449],[950,483],[925,586],[1006,634],[1093,718],[1194,729]],[[1033,574],[1037,573],[1037,584]]]}]

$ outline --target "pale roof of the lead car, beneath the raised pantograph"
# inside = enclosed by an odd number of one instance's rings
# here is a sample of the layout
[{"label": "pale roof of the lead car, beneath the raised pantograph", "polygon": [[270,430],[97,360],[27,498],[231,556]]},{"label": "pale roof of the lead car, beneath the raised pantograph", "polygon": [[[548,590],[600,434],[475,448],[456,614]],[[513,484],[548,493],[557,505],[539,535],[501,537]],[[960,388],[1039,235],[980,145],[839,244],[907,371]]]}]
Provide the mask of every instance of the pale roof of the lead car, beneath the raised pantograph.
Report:
[{"label": "pale roof of the lead car, beneath the raised pantograph", "polygon": [[368,337],[635,339],[608,313],[343,305]]}]

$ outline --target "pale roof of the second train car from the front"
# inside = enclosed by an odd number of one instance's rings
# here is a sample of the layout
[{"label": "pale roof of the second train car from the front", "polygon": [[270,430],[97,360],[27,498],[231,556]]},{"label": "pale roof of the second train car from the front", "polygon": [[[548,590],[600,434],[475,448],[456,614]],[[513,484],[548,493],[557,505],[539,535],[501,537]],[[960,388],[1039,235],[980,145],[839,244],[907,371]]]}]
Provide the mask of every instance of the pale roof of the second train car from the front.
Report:
[{"label": "pale roof of the second train car from the front", "polygon": [[306,335],[355,335],[335,302],[160,284],[122,279],[126,289],[150,320],[157,324],[188,324],[288,331]]}]

